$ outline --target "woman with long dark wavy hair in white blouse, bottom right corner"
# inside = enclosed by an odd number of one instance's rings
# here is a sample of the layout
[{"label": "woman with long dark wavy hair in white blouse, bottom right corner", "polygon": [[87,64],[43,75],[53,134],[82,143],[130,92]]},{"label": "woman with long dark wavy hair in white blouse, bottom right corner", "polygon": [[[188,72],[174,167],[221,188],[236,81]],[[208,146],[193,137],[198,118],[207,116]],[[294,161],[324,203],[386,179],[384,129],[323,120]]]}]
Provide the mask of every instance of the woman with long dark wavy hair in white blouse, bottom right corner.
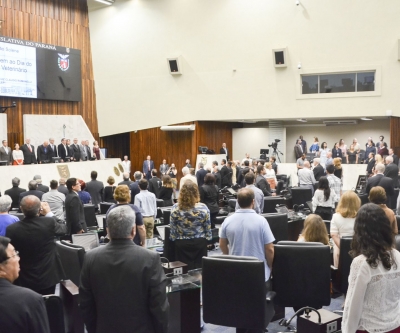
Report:
[{"label": "woman with long dark wavy hair in white blouse, bottom right corner", "polygon": [[393,243],[383,209],[363,205],[354,225],[343,333],[400,332],[400,253]]}]

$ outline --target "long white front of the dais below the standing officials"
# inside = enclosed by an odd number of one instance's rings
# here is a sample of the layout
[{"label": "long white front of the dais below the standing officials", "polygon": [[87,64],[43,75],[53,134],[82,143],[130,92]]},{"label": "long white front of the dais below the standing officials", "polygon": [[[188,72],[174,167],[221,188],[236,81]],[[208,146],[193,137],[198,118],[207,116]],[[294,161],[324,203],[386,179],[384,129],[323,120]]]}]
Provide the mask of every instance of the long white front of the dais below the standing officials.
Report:
[{"label": "long white front of the dais below the standing officials", "polygon": [[[69,163],[49,163],[49,164],[30,164],[20,166],[0,166],[0,191],[4,195],[4,191],[12,187],[11,180],[18,177],[21,180],[20,187],[28,189],[28,182],[35,175],[42,176],[43,185],[49,186],[52,179],[75,177],[90,181],[90,173],[97,171],[97,180],[107,185],[107,178],[113,176],[115,183],[121,182],[123,169],[120,166],[121,159],[110,158],[99,161],[87,162],[69,162]],[[122,171],[121,171],[122,170]]]}]

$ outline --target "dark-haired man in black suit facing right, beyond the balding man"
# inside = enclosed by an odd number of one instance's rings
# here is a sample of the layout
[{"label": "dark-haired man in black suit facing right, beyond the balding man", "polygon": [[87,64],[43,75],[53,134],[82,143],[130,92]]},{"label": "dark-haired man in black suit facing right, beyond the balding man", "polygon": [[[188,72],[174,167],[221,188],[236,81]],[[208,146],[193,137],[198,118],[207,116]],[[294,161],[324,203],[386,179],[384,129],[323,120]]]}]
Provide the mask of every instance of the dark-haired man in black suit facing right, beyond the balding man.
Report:
[{"label": "dark-haired man in black suit facing right, beyond the balding man", "polygon": [[81,234],[84,232],[85,212],[78,191],[81,184],[76,178],[67,179],[69,193],[65,197],[65,219],[67,221],[67,234]]}]

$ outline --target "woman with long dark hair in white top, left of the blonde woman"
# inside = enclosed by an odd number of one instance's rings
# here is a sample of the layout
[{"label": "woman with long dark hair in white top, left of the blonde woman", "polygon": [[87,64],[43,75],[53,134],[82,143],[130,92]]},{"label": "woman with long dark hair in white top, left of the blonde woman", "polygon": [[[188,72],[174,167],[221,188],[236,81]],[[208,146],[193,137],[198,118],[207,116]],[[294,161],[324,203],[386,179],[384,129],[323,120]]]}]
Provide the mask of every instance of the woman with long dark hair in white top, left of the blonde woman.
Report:
[{"label": "woman with long dark hair in white top, left of the blonde woman", "polygon": [[321,216],[323,220],[331,220],[338,197],[335,190],[329,188],[329,181],[321,177],[318,182],[318,190],[315,191],[312,205],[314,213]]}]

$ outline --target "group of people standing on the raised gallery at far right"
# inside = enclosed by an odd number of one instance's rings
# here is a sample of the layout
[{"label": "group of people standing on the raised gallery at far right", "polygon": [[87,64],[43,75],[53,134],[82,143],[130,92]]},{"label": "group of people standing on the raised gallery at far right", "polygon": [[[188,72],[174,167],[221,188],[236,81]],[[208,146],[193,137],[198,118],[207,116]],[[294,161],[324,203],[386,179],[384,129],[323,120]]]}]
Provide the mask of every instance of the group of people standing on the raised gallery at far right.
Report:
[{"label": "group of people standing on the raised gallery at far right", "polygon": [[[386,142],[384,142],[383,135],[379,137],[379,142],[376,144],[373,142],[372,138],[369,137],[365,144],[365,150],[361,148],[362,147],[356,138],[353,139],[353,143],[350,146],[347,146],[344,140],[340,139],[338,142],[335,142],[332,149],[330,149],[326,142],[322,142],[320,145],[318,138],[314,137],[309,152],[315,154],[316,157],[319,157],[321,161],[320,163],[323,165],[333,158],[340,158],[341,163],[343,164],[358,164],[361,161],[367,163],[370,153],[374,153],[374,155],[380,154],[381,156],[390,155],[390,150],[388,149]],[[296,160],[300,158],[302,154],[307,154],[307,142],[303,139],[302,135],[300,135],[296,140],[294,152]],[[363,152],[364,154],[360,155],[360,152]]]}]

